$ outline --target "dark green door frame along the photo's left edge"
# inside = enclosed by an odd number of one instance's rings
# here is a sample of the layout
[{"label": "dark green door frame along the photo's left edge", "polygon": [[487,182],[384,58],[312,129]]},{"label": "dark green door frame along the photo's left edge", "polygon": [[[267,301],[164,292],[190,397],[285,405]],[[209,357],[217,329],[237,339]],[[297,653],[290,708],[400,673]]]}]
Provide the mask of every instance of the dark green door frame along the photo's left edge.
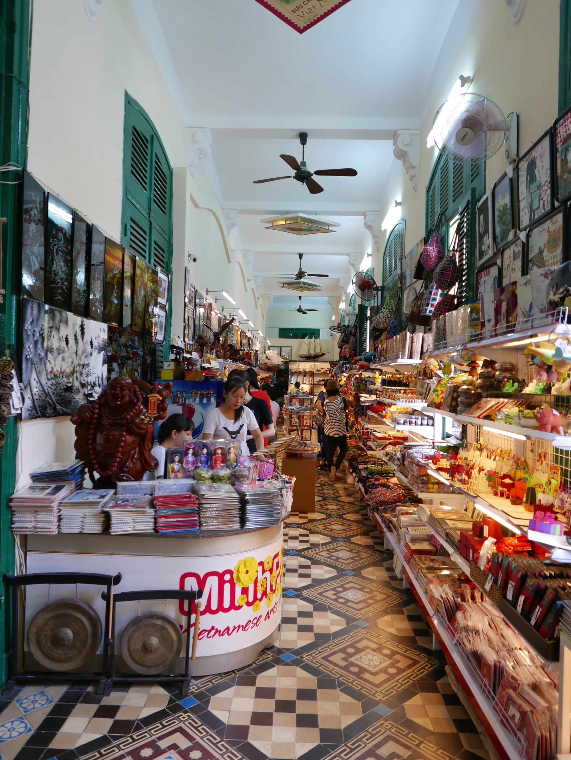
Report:
[{"label": "dark green door frame along the photo's left edge", "polygon": [[[28,86],[30,83],[30,0],[0,2],[0,165],[27,164]],[[21,171],[3,173],[2,179],[21,180]],[[21,333],[21,201],[22,185],[0,185],[2,226],[2,277],[6,291],[0,303],[0,354],[7,345],[19,347]],[[6,440],[0,454],[0,578],[14,572],[14,537],[10,530],[8,500],[16,485],[17,421],[8,417]],[[10,613],[5,587],[0,585],[0,683],[8,679],[11,654]]]}]

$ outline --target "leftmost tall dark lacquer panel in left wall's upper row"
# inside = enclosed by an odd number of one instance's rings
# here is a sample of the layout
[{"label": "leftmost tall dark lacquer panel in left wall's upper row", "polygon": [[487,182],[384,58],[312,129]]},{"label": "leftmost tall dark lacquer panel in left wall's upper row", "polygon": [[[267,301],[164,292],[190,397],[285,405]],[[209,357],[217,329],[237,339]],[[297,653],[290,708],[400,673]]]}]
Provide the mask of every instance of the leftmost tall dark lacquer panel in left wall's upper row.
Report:
[{"label": "leftmost tall dark lacquer panel in left wall's upper row", "polygon": [[45,219],[43,187],[24,172],[24,214],[22,217],[22,294],[43,301],[46,277]]}]

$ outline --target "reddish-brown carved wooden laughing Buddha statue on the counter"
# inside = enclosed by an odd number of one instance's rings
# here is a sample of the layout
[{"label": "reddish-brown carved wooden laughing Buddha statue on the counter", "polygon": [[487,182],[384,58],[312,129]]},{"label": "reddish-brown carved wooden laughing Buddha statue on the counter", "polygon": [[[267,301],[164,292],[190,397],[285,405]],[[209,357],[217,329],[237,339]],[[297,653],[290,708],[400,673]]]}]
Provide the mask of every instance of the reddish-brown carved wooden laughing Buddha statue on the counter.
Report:
[{"label": "reddish-brown carved wooden laughing Buddha statue on the counter", "polygon": [[[142,480],[157,469],[151,454],[154,419],[167,416],[167,398],[172,383],[155,383],[118,377],[109,381],[94,404],[82,404],[71,415],[75,425],[75,451],[87,464],[92,483],[114,488],[125,480]],[[94,473],[99,474],[96,481]]]}]

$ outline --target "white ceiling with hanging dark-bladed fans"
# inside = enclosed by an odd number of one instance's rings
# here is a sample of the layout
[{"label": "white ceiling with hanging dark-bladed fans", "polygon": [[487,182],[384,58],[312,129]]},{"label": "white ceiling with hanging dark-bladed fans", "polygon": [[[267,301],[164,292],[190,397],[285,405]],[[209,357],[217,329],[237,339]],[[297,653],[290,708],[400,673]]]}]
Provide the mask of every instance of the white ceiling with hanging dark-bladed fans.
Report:
[{"label": "white ceiling with hanging dark-bladed fans", "polygon": [[[338,295],[347,256],[367,239],[363,213],[381,209],[403,171],[392,135],[420,124],[462,39],[459,20],[469,23],[480,0],[351,0],[301,35],[255,0],[131,2],[186,126],[211,132],[205,169],[222,207],[240,212],[234,233],[254,252],[262,293],[284,293],[268,275],[293,274],[304,252],[306,271],[330,274],[323,295]],[[300,131],[311,171],[348,166],[357,176],[315,178],[319,195],[293,179],[253,185],[293,173],[279,154],[301,159]],[[285,211],[341,226],[304,237],[263,229],[263,217]]]}]

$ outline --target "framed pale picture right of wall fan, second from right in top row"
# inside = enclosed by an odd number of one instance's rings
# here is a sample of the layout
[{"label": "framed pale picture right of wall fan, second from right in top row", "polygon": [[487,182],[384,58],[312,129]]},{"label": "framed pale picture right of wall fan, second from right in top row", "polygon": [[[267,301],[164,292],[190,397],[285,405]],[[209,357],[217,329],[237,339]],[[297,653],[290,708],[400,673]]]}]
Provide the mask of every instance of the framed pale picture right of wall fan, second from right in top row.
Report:
[{"label": "framed pale picture right of wall fan, second from right in top row", "polygon": [[518,230],[550,214],[554,208],[553,133],[549,129],[516,164]]}]

